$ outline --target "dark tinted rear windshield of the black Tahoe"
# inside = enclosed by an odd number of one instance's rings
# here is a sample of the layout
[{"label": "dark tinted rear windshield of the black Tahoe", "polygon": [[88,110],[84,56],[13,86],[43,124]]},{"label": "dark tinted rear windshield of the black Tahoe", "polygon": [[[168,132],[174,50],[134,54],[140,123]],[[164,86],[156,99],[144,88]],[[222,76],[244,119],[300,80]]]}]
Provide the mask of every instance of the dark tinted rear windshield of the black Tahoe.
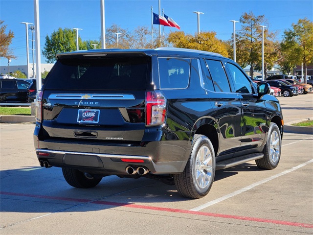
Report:
[{"label": "dark tinted rear windshield of the black Tahoe", "polygon": [[45,89],[145,89],[150,57],[65,58],[57,61],[46,78]]}]

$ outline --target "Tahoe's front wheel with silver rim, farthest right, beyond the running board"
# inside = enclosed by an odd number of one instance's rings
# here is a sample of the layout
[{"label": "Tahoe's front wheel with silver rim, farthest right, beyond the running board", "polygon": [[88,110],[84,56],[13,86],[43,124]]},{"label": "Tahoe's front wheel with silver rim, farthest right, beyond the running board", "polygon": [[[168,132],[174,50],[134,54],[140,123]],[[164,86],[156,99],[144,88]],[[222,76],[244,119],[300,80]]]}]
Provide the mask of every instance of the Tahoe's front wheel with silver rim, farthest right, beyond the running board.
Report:
[{"label": "Tahoe's front wheel with silver rim, farthest right, beyond the running board", "polygon": [[278,126],[271,122],[268,130],[268,139],[264,147],[264,157],[255,160],[260,169],[271,170],[276,168],[280,160],[282,139]]}]

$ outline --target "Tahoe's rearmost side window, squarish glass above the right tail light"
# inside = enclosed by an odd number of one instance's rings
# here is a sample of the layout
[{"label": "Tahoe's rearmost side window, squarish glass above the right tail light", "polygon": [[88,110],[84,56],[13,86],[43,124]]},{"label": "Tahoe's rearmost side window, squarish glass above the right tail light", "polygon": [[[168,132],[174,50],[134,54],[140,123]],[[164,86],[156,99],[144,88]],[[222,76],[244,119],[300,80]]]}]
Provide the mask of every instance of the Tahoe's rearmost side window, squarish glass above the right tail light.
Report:
[{"label": "Tahoe's rearmost side window, squarish glass above the right tail light", "polygon": [[185,89],[189,84],[190,59],[158,58],[161,89]]}]

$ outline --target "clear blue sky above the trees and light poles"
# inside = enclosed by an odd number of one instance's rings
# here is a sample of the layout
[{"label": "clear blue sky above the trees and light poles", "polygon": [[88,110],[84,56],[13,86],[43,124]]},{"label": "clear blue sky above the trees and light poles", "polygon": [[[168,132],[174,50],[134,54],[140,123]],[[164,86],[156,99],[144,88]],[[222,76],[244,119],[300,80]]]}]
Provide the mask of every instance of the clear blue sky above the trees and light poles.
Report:
[{"label": "clear blue sky above the trees and light poles", "polygon": [[[265,15],[270,31],[277,31],[276,40],[291,29],[292,23],[307,18],[313,21],[313,0],[160,0],[161,11],[172,18],[185,34],[194,35],[198,30],[197,14],[200,15],[200,30],[214,31],[216,37],[228,40],[233,33],[233,23],[239,21],[245,12],[252,11],[255,16]],[[151,6],[158,13],[158,0],[105,0],[105,26],[117,24],[133,31],[137,26],[151,28]],[[46,35],[61,28],[82,28],[82,40],[99,40],[101,36],[100,0],[39,0],[40,44],[45,46]],[[10,65],[26,65],[26,30],[21,22],[34,23],[34,0],[0,0],[0,20],[14,32],[10,48],[17,59]],[[158,25],[154,25],[158,28]],[[177,31],[175,27],[164,27],[165,33]],[[236,23],[236,31],[241,28]],[[35,34],[34,34],[35,37]],[[29,61],[32,61],[31,33],[29,33]],[[35,46],[34,46],[35,47]],[[46,63],[41,56],[41,62]],[[0,58],[0,66],[8,61]]]}]

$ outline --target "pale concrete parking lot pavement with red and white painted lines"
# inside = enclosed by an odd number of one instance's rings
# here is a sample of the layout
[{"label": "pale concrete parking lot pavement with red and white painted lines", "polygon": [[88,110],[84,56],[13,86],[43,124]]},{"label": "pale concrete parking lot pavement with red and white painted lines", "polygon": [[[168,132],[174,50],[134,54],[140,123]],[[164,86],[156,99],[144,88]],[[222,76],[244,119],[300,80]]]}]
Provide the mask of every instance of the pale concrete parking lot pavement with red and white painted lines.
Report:
[{"label": "pale concrete parking lot pavement with red and white painted lines", "polygon": [[[285,123],[313,118],[313,94],[280,97]],[[218,170],[209,194],[103,178],[67,185],[61,168],[39,166],[34,124],[0,124],[0,234],[313,234],[313,135],[285,133],[273,170],[254,162]]]}]

